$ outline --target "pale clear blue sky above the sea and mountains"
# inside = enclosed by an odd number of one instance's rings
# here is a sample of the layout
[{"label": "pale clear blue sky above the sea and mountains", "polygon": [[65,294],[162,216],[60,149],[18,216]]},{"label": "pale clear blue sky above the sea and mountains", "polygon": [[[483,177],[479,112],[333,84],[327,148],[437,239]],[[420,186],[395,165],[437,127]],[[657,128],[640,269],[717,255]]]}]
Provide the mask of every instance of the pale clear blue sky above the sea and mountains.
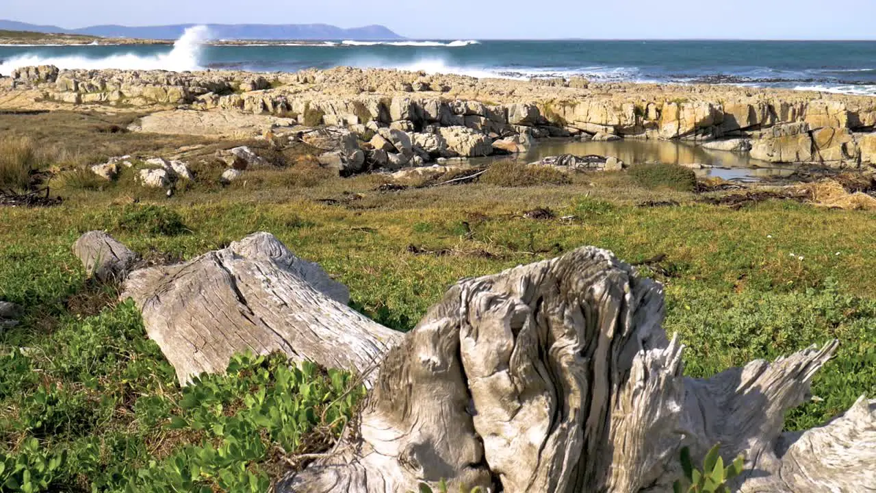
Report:
[{"label": "pale clear blue sky above the sea and mountains", "polygon": [[0,0],[0,18],[96,24],[382,24],[418,39],[876,39],[876,0]]}]

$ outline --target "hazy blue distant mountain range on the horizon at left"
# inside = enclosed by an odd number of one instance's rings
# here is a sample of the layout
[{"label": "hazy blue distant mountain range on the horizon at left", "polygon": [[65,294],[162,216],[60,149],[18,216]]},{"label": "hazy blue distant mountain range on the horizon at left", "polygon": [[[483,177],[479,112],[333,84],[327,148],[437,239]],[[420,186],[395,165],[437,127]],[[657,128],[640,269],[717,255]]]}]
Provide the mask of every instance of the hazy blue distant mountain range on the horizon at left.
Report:
[{"label": "hazy blue distant mountain range on the horizon at left", "polygon": [[[187,28],[194,25],[149,25],[140,27],[92,25],[80,29],[64,29],[57,25],[35,25],[0,19],[0,30],[88,34],[103,38],[178,39]],[[210,34],[215,39],[402,39],[401,36],[383,25],[366,25],[351,29],[343,29],[327,24],[208,24],[207,26]]]}]

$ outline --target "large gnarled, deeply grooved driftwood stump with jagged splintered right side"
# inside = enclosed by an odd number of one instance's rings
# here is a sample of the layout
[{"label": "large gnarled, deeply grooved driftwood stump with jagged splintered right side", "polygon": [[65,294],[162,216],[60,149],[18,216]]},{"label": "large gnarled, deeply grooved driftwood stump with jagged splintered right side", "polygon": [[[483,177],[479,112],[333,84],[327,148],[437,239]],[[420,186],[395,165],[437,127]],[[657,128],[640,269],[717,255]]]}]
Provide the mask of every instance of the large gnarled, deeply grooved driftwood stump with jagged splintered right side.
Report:
[{"label": "large gnarled, deeply grooved driftwood stump with jagged splintered right side", "polygon": [[671,491],[681,447],[718,442],[745,454],[743,491],[876,489],[876,402],[781,432],[835,343],[694,380],[662,317],[661,285],[596,248],[463,280],[387,354],[334,453],[278,491]]}]

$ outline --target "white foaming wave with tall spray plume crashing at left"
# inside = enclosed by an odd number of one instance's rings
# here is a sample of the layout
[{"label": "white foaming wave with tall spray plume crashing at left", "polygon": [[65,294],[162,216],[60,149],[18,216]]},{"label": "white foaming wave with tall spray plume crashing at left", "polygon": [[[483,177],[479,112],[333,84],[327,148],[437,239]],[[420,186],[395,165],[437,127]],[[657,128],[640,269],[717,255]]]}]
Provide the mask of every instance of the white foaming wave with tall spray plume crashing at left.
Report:
[{"label": "white foaming wave with tall spray plume crashing at left", "polygon": [[121,68],[125,70],[171,70],[182,72],[201,68],[201,48],[209,39],[206,26],[189,27],[180,39],[173,43],[170,52],[162,54],[112,54],[92,58],[81,54],[68,56],[45,56],[23,54],[0,63],[0,75],[10,75],[12,70],[33,65],[54,65],[57,68]]}]

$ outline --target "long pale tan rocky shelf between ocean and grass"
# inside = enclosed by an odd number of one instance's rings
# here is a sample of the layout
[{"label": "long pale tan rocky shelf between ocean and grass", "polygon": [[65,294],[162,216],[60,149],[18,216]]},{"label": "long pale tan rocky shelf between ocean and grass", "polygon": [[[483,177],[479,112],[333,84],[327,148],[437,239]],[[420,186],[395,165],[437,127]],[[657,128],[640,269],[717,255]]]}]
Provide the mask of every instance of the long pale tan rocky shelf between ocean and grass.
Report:
[{"label": "long pale tan rocky shelf between ocean and grass", "polygon": [[143,132],[293,135],[342,175],[522,152],[546,137],[683,140],[772,163],[876,168],[876,98],[782,89],[33,67],[0,78],[2,107],[150,112],[131,128]]}]

